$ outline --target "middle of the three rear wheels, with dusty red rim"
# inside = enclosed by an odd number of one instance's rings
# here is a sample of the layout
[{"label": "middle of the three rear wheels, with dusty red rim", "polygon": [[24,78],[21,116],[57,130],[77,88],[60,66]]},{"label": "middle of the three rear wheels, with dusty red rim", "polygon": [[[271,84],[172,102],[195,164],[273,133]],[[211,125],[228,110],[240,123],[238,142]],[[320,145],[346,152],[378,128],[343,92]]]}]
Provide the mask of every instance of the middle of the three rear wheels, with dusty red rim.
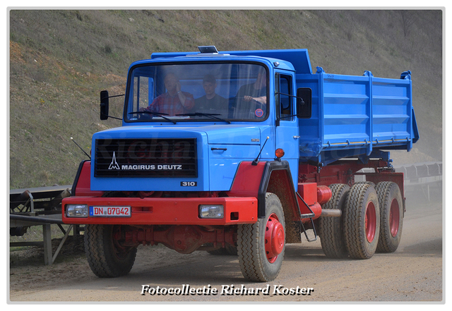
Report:
[{"label": "middle of the three rear wheels, with dusty red rim", "polygon": [[380,232],[379,200],[369,183],[352,185],[343,218],[345,248],[350,257],[369,259],[376,251]]}]

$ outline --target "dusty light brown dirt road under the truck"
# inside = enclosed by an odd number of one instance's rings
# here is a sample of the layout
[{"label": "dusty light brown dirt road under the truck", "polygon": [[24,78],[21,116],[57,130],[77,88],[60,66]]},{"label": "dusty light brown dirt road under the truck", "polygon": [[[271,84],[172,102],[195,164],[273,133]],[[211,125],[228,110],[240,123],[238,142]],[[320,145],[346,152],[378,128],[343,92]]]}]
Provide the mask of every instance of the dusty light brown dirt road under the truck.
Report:
[{"label": "dusty light brown dirt road under the truck", "polygon": [[[428,209],[427,209],[428,207]],[[138,248],[130,274],[99,279],[82,254],[52,266],[10,262],[9,299],[15,302],[436,302],[443,293],[443,214],[441,202],[407,202],[398,250],[370,260],[331,260],[319,240],[287,245],[283,267],[270,283],[249,283],[237,256],[194,252],[182,255],[163,247]],[[426,212],[428,210],[428,212]],[[312,233],[312,232],[310,232]],[[184,285],[185,284],[185,285]],[[217,288],[216,295],[183,295],[190,288]],[[142,286],[163,295],[141,295]],[[229,288],[261,288],[268,295],[225,295]],[[310,295],[285,295],[314,288]],[[177,289],[179,288],[179,289]],[[276,291],[275,291],[276,288]],[[176,291],[174,291],[176,289]],[[155,290],[151,290],[153,292]],[[179,295],[169,295],[169,292]],[[199,289],[198,291],[202,291]],[[301,293],[301,290],[298,290]],[[308,291],[308,290],[306,290]],[[205,291],[206,293],[206,291]],[[230,292],[227,292],[230,293]],[[304,292],[307,293],[307,292]]]}]

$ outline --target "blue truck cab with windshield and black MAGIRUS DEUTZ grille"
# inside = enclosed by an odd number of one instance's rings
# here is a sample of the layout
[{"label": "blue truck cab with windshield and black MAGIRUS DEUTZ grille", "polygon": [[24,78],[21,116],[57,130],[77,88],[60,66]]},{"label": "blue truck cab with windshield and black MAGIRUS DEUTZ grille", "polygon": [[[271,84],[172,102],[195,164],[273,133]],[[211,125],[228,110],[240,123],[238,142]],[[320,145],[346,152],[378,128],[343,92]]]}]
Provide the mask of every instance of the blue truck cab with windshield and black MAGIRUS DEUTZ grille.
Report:
[{"label": "blue truck cab with windshield and black MAGIRUS DEUTZ grille", "polygon": [[[180,85],[175,94],[165,87],[167,75]],[[212,100],[206,99],[203,85],[208,84],[215,92]],[[187,106],[177,92],[184,94]],[[157,55],[133,63],[123,127],[96,133],[93,138],[91,187],[103,191],[228,191],[240,162],[273,161],[275,150],[284,151],[297,178],[296,95],[295,70],[287,61],[225,52]],[[298,99],[306,106],[309,102],[307,97]],[[168,110],[165,105],[177,108]],[[114,150],[112,144],[121,148]],[[141,152],[146,145],[153,145],[151,152]],[[113,164],[118,165],[111,166],[113,153]]]}]

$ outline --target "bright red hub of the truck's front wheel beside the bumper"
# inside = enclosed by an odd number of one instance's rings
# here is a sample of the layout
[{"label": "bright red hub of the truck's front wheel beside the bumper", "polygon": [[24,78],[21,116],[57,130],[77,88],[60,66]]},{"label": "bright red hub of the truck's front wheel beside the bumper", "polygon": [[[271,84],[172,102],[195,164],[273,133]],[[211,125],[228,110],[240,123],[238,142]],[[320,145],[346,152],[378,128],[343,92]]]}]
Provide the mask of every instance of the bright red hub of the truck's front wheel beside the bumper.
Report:
[{"label": "bright red hub of the truck's front wheel beside the bumper", "polygon": [[276,214],[271,214],[268,217],[266,224],[266,255],[268,262],[275,262],[278,255],[284,249],[284,227],[280,223]]}]

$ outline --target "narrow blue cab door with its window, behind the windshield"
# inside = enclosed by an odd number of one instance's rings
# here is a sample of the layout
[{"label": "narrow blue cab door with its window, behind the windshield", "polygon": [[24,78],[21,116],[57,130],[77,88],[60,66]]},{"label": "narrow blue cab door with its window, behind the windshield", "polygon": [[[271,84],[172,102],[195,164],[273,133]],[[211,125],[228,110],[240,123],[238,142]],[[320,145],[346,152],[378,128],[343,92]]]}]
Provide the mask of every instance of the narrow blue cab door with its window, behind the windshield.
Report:
[{"label": "narrow blue cab door with its window, behind the windshield", "polygon": [[290,164],[295,188],[298,183],[299,128],[295,115],[294,73],[275,73],[275,150],[284,150],[282,160]]}]

